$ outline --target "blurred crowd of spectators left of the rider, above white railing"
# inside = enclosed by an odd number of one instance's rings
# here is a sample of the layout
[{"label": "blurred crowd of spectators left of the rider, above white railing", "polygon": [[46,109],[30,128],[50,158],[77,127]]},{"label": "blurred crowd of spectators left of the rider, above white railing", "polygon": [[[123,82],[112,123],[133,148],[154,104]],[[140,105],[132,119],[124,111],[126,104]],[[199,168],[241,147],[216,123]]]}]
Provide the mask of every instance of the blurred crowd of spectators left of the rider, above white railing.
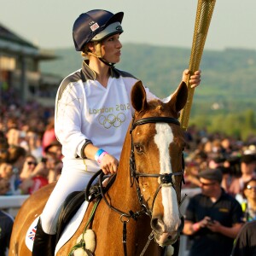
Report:
[{"label": "blurred crowd of spectators left of the rider, above white railing", "polygon": [[53,109],[1,105],[0,195],[32,194],[58,179],[61,144]]}]

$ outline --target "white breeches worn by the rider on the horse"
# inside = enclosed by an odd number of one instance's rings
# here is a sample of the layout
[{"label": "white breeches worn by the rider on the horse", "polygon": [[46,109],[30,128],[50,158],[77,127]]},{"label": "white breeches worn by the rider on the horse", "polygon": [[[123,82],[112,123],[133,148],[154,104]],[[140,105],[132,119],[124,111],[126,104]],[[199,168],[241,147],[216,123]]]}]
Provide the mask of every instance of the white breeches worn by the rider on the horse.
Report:
[{"label": "white breeches worn by the rider on the horse", "polygon": [[67,195],[73,191],[85,189],[95,172],[100,167],[96,161],[86,160],[63,160],[61,177],[55,185],[55,189],[49,195],[44,211],[40,218],[45,233],[54,235],[56,233],[56,224],[61,212],[61,205],[67,198]]}]

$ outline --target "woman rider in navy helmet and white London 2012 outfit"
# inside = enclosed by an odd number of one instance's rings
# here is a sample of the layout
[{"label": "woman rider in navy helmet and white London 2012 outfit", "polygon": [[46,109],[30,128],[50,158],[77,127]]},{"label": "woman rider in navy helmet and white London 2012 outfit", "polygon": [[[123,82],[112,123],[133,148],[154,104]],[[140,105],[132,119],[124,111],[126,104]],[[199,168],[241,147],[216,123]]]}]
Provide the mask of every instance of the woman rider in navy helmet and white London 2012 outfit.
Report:
[{"label": "woman rider in navy helmet and white London 2012 outfit", "polygon": [[[122,44],[123,12],[95,9],[79,15],[73,25],[75,49],[84,56],[83,66],[65,78],[55,102],[55,133],[62,144],[63,168],[44,207],[32,255],[54,255],[56,220],[67,195],[83,190],[99,169],[117,171],[125,133],[131,122],[131,88],[137,79],[113,67]],[[183,81],[189,70],[183,72]],[[201,72],[190,77],[200,84]],[[156,98],[146,88],[148,100]],[[169,100],[170,97],[167,100]]]}]

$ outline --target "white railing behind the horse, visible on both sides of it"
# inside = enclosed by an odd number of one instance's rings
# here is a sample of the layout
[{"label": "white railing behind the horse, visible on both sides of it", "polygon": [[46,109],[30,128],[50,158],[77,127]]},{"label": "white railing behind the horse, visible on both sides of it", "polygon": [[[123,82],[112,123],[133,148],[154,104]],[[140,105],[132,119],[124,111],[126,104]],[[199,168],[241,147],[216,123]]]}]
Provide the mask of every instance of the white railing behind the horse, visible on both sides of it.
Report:
[{"label": "white railing behind the horse, visible on both sides of it", "polygon": [[[184,195],[188,195],[181,206],[181,213],[184,214],[186,207],[189,203],[189,198],[201,192],[201,189],[182,189],[182,198]],[[9,212],[12,216],[16,216],[23,202],[29,195],[0,195],[0,209],[4,209],[5,212]],[[188,251],[188,237],[181,236],[179,256],[187,256]]]}]

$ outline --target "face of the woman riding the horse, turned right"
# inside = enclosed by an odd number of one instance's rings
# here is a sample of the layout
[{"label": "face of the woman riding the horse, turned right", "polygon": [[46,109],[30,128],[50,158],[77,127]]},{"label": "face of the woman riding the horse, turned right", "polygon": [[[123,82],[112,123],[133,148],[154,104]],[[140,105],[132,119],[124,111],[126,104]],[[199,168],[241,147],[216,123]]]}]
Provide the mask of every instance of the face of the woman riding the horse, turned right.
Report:
[{"label": "face of the woman riding the horse, turned right", "polygon": [[110,63],[118,63],[120,61],[121,48],[119,34],[110,36],[102,41],[102,57]]}]

